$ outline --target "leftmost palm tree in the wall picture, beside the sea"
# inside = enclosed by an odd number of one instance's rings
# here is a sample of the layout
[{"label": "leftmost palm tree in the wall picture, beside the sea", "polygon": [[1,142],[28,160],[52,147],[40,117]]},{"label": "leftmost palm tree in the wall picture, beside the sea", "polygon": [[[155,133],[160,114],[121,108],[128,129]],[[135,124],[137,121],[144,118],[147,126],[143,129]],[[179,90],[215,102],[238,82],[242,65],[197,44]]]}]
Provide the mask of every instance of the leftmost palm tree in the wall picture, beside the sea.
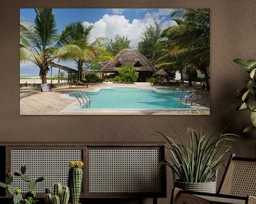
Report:
[{"label": "leftmost palm tree in the wall picture, beside the sea", "polygon": [[20,23],[20,60],[36,64],[42,84],[46,84],[46,74],[53,61],[53,50],[57,27],[53,9],[35,9],[34,23]]}]

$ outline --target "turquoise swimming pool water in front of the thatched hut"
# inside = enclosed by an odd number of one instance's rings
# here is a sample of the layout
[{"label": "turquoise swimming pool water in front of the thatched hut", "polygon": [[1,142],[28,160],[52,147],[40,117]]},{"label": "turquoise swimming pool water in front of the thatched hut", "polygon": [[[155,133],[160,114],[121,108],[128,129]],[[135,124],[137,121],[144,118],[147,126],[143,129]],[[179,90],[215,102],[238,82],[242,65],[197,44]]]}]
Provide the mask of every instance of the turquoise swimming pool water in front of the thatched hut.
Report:
[{"label": "turquoise swimming pool water in front of the thatched hut", "polygon": [[[176,89],[141,89],[134,87],[112,87],[97,92],[86,92],[90,103],[82,108],[90,109],[189,109],[181,103],[186,91]],[[86,96],[86,94],[84,94]],[[75,96],[75,94],[70,94]]]}]

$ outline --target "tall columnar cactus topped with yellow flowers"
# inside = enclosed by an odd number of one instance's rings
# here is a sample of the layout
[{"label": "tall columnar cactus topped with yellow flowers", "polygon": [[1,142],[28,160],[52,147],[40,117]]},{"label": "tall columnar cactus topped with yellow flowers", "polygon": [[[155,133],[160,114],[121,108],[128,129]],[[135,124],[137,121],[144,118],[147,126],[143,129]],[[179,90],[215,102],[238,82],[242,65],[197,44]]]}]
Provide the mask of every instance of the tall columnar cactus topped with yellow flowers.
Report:
[{"label": "tall columnar cactus topped with yellow flowers", "polygon": [[70,187],[70,203],[78,204],[82,188],[82,161],[69,162],[68,186]]}]

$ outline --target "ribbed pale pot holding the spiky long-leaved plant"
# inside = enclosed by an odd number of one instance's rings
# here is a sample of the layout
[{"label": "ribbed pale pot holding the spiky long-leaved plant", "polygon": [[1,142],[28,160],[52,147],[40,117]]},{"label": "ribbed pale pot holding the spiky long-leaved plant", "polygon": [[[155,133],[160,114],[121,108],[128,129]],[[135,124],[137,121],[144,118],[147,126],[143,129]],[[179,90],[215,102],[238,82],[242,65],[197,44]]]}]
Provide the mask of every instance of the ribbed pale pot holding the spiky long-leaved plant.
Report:
[{"label": "ribbed pale pot holding the spiky long-leaved plant", "polygon": [[175,181],[174,186],[187,191],[196,191],[204,193],[216,193],[216,181],[210,181],[206,183],[187,183],[181,181]]}]

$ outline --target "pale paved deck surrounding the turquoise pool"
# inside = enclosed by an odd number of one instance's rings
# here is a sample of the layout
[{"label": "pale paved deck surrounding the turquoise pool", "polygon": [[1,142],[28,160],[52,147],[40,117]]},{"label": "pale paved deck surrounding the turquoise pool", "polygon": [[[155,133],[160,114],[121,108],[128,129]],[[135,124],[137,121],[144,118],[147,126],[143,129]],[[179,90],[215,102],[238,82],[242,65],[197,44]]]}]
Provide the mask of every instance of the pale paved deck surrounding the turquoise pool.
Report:
[{"label": "pale paved deck surrounding the turquoise pool", "polygon": [[[49,92],[40,92],[31,87],[22,87],[20,91],[20,114],[21,115],[210,115],[210,96],[207,91],[198,89],[203,96],[195,109],[182,110],[110,110],[110,109],[82,109],[76,98],[68,97],[70,92],[95,91],[107,87],[144,87],[157,88],[150,86],[149,83],[135,84],[112,84],[102,83],[93,84],[88,88],[84,86],[72,87],[68,85],[58,86]],[[159,86],[160,87],[160,86]],[[163,87],[163,86],[161,86]],[[203,106],[201,106],[203,104]]]}]

